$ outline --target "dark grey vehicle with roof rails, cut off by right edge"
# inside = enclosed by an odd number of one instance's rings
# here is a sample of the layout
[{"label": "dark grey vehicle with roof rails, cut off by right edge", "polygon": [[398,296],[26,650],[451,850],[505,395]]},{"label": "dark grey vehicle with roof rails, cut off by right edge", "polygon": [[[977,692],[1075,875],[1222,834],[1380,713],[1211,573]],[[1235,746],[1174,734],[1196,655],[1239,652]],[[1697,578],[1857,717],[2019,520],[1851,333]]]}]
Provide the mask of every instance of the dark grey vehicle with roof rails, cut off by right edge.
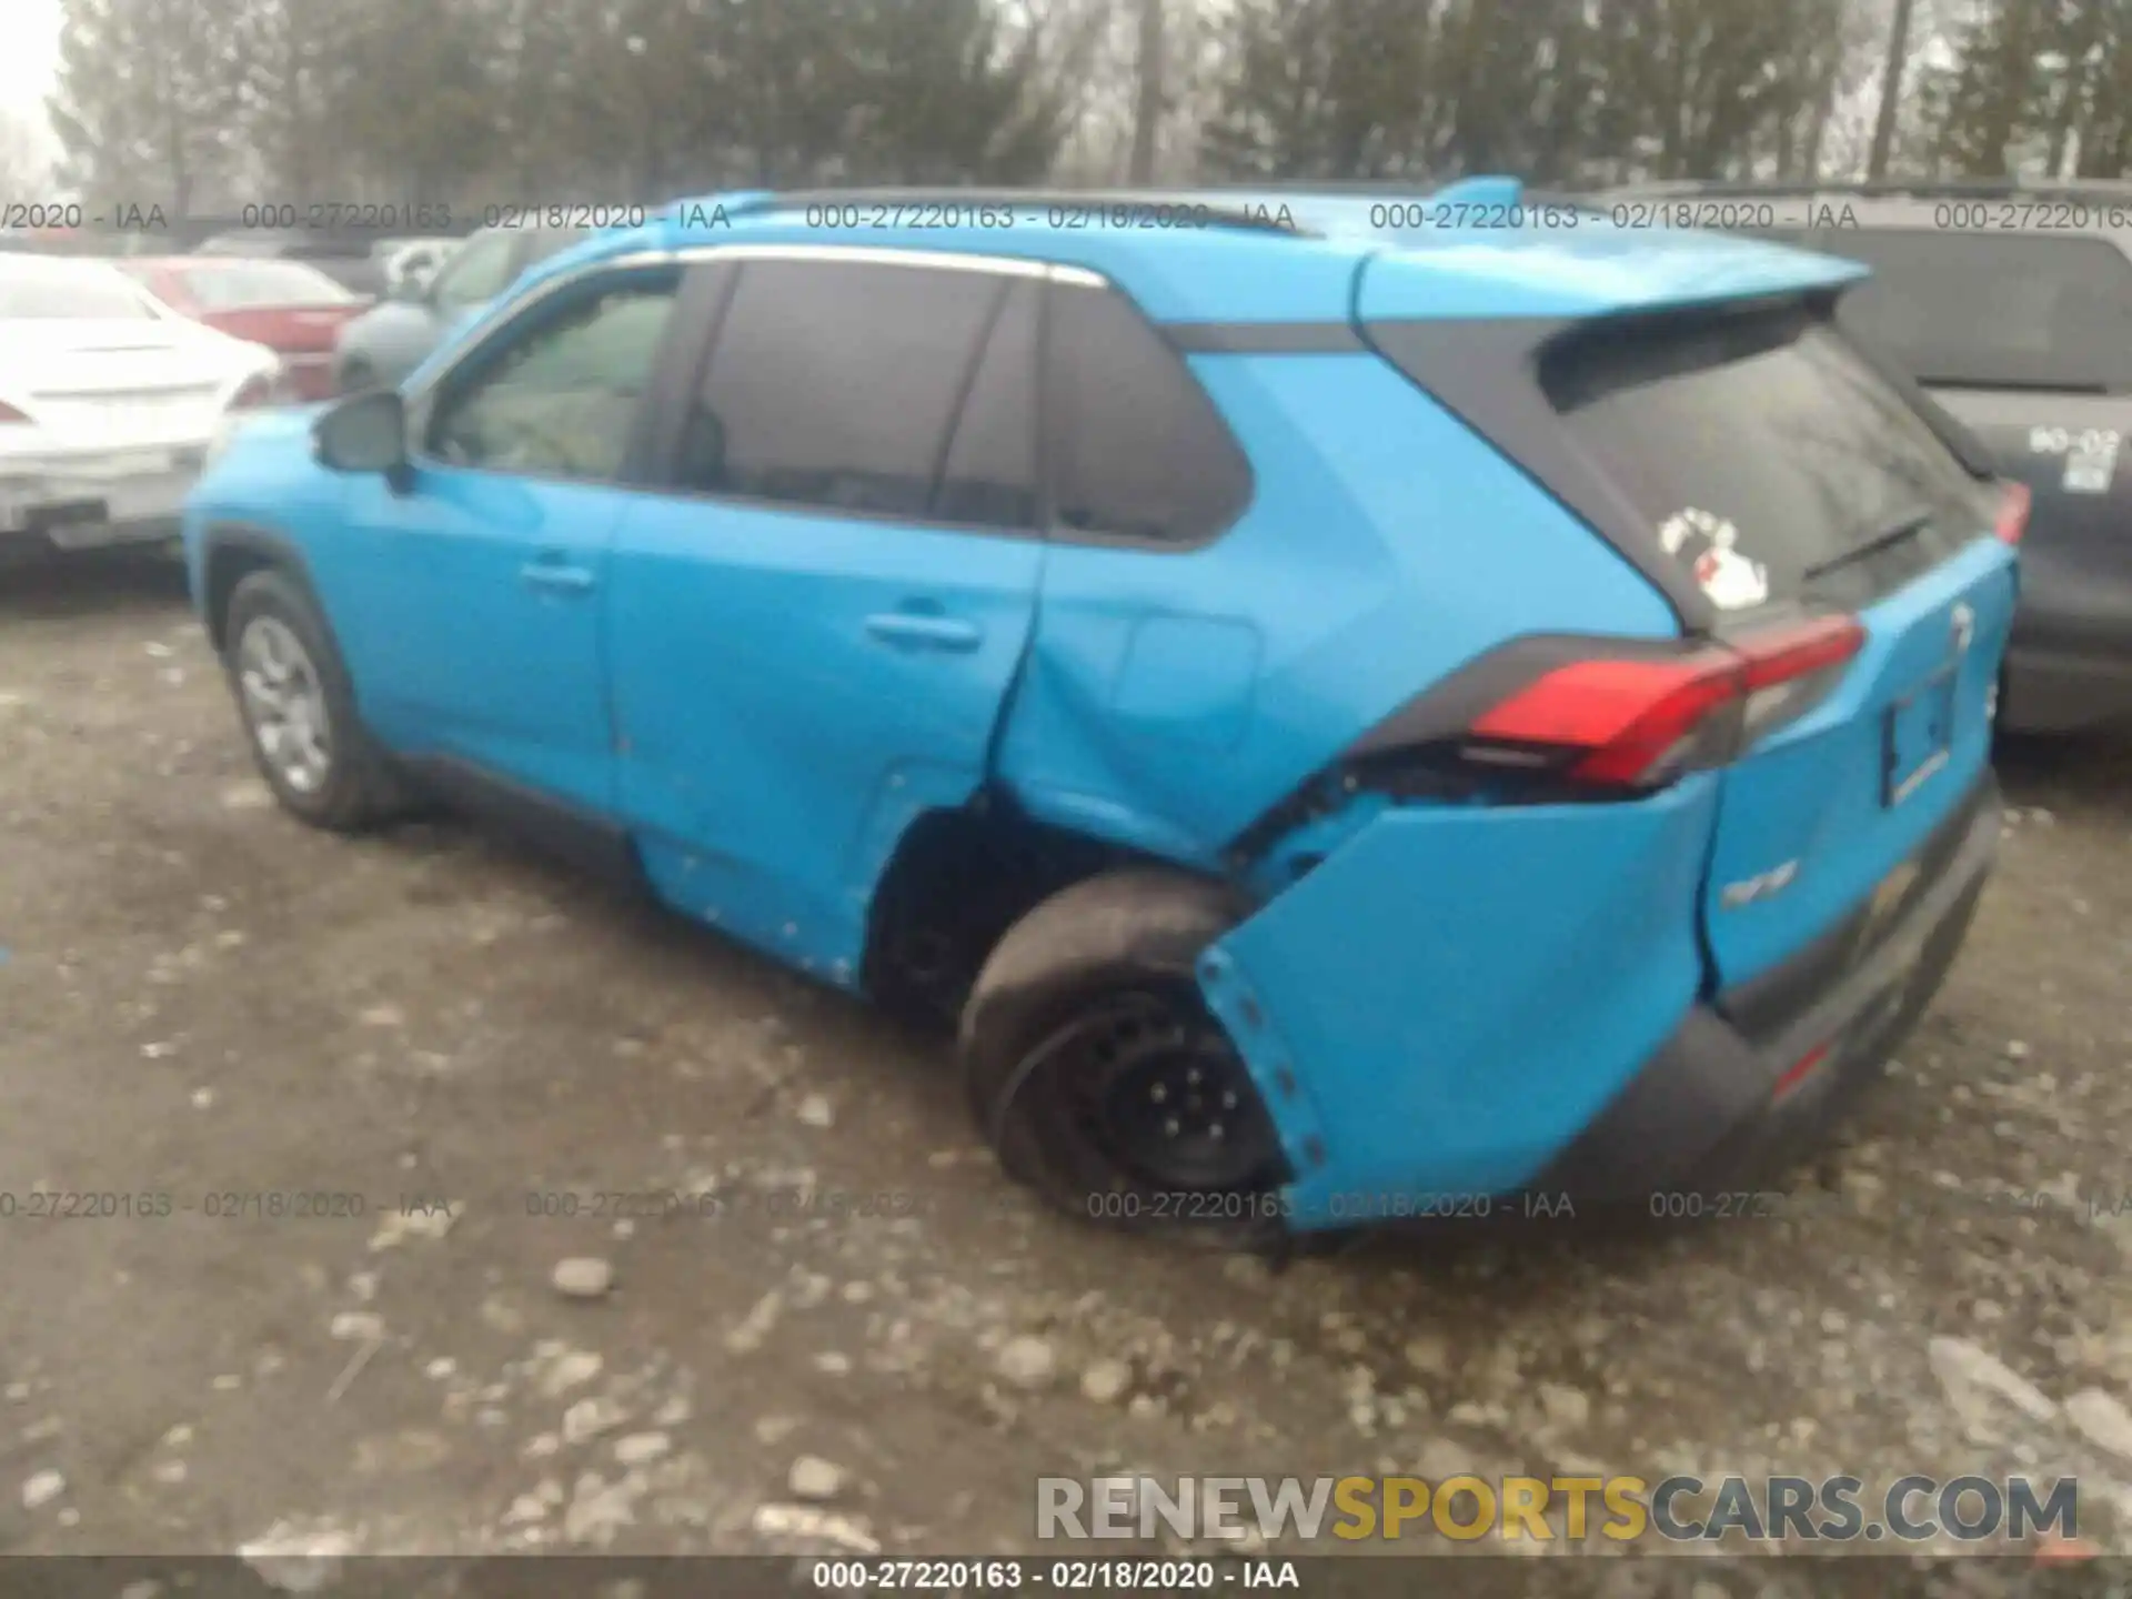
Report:
[{"label": "dark grey vehicle with roof rails, cut off by right edge", "polygon": [[1868,262],[1874,281],[1844,318],[2034,495],[2002,721],[2068,731],[2132,716],[2132,183],[1671,185],[1612,200],[1710,205]]}]

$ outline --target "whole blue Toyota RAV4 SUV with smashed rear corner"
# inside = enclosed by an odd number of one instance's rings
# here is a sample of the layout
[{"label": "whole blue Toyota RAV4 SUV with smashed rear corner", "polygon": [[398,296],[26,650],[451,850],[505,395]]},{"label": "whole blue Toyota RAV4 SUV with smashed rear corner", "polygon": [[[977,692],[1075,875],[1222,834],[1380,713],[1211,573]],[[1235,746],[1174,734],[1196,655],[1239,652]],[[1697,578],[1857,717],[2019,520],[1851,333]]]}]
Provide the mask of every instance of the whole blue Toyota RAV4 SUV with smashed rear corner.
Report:
[{"label": "whole blue Toyota RAV4 SUV with smashed rear corner", "polygon": [[957,1017],[1075,1213],[1731,1188],[2000,827],[2023,503],[1861,275],[1486,179],[684,203],[226,439],[192,588],[301,819]]}]

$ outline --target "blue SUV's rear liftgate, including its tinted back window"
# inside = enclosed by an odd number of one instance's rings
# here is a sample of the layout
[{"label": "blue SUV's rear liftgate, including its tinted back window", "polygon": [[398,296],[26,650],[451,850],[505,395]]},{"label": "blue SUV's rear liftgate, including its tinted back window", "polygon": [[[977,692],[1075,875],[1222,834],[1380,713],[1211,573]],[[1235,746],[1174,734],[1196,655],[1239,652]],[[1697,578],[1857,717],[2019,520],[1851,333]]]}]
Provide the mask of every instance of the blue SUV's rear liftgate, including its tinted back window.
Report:
[{"label": "blue SUV's rear liftgate, including its tinted back window", "polygon": [[1993,495],[1804,309],[1571,345],[1546,367],[1576,443],[1659,529],[1721,633],[1812,612],[1857,659],[1757,706],[1723,772],[1703,885],[1718,987],[1872,900],[1974,791],[2015,603]]}]

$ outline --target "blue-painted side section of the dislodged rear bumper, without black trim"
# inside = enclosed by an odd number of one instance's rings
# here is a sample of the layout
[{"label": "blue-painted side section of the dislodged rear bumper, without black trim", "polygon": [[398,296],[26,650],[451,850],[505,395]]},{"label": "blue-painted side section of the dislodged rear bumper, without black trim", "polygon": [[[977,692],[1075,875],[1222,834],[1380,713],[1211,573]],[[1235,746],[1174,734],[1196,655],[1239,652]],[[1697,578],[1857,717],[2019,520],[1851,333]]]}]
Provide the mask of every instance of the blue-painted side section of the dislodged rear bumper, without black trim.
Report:
[{"label": "blue-painted side section of the dislodged rear bumper, without black trim", "polygon": [[1209,951],[1296,1226],[1516,1190],[1605,1107],[1701,987],[1716,793],[1390,808]]}]

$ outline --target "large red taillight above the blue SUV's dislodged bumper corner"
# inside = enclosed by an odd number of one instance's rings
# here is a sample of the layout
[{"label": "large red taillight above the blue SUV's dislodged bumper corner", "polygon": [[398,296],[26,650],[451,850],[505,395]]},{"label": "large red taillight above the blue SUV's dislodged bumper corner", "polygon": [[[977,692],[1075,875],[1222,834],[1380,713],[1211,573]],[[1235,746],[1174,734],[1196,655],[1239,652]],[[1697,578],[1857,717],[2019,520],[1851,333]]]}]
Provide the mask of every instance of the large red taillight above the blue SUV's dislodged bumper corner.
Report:
[{"label": "large red taillight above the blue SUV's dislodged bumper corner", "polygon": [[1863,642],[1855,618],[1823,616],[1671,659],[1573,661],[1482,714],[1471,736],[1567,755],[1576,782],[1650,787],[1729,759]]}]

